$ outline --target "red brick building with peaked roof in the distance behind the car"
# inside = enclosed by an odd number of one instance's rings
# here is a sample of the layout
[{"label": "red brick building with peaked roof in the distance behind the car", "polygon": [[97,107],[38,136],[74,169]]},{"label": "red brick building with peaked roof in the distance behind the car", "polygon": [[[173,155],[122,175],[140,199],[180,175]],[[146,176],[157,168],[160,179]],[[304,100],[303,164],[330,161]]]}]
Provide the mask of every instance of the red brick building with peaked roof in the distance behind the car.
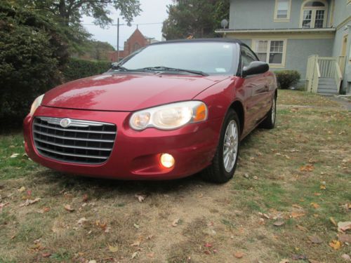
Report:
[{"label": "red brick building with peaked roof in the distance behind the car", "polygon": [[[150,39],[144,36],[137,27],[137,29],[135,29],[133,34],[129,36],[127,41],[124,42],[124,50],[119,50],[119,60],[121,60],[122,58],[126,58],[126,56],[133,53],[135,50],[138,50],[139,48],[143,48],[144,46],[147,46],[148,44],[153,42],[154,42],[153,39]],[[117,51],[108,53],[108,59],[111,62],[116,62]]]}]

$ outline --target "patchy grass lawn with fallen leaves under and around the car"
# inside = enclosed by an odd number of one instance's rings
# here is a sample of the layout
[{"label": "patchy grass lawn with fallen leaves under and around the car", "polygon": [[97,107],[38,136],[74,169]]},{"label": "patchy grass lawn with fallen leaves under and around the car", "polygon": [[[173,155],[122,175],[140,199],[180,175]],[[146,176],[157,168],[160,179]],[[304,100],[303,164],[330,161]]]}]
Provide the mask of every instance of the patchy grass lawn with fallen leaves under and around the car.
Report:
[{"label": "patchy grass lawn with fallen leaves under and around the car", "polygon": [[0,262],[345,262],[329,243],[351,221],[350,131],[336,102],[279,90],[277,128],[246,137],[223,185],[65,175],[0,135]]}]

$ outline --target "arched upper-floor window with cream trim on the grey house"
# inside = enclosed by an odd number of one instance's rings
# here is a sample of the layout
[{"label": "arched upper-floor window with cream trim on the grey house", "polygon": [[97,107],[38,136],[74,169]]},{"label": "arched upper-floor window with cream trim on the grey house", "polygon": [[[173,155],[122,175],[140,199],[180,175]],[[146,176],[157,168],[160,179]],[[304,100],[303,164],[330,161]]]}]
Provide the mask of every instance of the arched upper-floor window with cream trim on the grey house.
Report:
[{"label": "arched upper-floor window with cream trim on the grey house", "polygon": [[325,1],[305,1],[302,6],[302,28],[326,27],[327,4]]}]

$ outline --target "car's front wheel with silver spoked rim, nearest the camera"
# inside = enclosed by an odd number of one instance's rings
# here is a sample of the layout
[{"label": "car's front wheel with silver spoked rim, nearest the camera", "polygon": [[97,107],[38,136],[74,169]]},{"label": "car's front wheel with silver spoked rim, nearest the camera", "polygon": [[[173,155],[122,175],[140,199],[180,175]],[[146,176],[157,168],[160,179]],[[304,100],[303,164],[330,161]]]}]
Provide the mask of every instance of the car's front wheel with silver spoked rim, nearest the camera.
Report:
[{"label": "car's front wheel with silver spoked rim, nearest the camera", "polygon": [[211,166],[202,172],[204,180],[223,184],[234,176],[240,144],[240,122],[237,113],[230,109],[225,116],[220,140]]}]

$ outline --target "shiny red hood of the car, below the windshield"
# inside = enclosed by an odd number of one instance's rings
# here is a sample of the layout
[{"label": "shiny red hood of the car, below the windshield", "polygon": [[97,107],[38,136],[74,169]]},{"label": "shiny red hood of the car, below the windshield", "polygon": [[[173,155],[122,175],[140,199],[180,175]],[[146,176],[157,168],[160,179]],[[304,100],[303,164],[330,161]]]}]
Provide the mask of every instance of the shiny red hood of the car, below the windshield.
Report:
[{"label": "shiny red hood of the car, below the windshield", "polygon": [[42,105],[68,109],[133,112],[191,100],[228,76],[102,74],[49,90]]}]

